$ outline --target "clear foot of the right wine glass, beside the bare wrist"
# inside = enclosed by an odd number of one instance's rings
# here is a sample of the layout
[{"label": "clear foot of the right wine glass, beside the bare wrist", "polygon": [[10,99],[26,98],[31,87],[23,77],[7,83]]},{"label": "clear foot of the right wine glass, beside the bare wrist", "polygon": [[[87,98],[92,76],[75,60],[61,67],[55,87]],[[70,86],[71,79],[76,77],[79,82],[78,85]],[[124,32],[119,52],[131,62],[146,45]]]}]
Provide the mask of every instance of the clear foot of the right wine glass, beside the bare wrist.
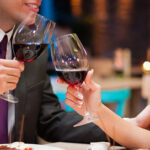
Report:
[{"label": "clear foot of the right wine glass, beside the bare wrist", "polygon": [[96,120],[98,120],[98,117],[92,117],[90,115],[86,115],[86,116],[83,117],[83,119],[80,122],[78,122],[77,124],[73,125],[73,127],[82,126],[82,125],[85,125],[87,123],[94,122]]}]

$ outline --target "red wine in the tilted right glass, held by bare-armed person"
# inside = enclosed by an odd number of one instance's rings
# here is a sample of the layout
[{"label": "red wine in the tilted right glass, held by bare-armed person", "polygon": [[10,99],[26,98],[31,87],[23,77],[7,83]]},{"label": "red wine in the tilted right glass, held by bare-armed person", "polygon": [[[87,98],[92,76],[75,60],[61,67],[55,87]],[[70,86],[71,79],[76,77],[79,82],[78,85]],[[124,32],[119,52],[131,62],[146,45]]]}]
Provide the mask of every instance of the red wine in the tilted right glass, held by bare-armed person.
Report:
[{"label": "red wine in the tilted right glass, held by bare-armed person", "polygon": [[82,84],[84,81],[87,70],[56,70],[60,78],[69,84]]}]

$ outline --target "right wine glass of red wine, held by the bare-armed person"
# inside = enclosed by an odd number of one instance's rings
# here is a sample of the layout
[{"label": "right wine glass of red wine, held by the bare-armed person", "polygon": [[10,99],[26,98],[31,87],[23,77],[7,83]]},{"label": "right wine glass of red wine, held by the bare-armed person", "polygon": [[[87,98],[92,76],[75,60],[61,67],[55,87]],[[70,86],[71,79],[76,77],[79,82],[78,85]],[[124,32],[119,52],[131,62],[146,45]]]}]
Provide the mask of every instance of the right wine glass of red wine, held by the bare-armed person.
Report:
[{"label": "right wine glass of red wine, held by the bare-armed person", "polygon": [[[78,36],[73,33],[56,38],[51,42],[51,55],[59,77],[68,84],[78,85],[80,88],[87,75],[89,64],[87,52]],[[95,119],[88,112],[85,101],[83,120],[74,125],[74,127],[93,122]]]}]

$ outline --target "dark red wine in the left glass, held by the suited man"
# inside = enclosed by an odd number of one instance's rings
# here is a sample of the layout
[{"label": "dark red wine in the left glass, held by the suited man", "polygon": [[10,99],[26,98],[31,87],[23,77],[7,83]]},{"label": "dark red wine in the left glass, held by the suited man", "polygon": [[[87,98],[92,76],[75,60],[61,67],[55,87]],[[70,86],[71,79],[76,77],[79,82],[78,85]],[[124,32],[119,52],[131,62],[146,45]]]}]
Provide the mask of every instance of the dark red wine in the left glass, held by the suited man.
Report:
[{"label": "dark red wine in the left glass, held by the suited man", "polygon": [[41,43],[26,43],[14,44],[14,53],[19,61],[31,62],[34,61],[48,46],[48,44]]}]

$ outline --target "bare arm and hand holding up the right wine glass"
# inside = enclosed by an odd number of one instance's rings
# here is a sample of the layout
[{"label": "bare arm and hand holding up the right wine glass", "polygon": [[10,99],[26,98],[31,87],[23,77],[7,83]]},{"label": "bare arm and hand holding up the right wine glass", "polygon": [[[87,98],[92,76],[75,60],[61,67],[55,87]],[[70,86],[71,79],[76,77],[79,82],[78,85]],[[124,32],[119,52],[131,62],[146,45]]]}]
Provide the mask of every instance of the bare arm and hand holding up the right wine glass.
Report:
[{"label": "bare arm and hand holding up the right wine glass", "polygon": [[[91,80],[92,75],[92,71],[88,72],[80,92],[87,101],[90,113],[96,113],[99,118],[95,124],[123,146],[130,148],[149,148],[150,131],[125,121],[105,107],[100,101],[100,86]],[[78,103],[78,101],[83,100],[77,97],[77,94],[74,94],[76,92],[76,88],[69,88],[66,103],[79,114],[83,115],[84,105]]]}]

